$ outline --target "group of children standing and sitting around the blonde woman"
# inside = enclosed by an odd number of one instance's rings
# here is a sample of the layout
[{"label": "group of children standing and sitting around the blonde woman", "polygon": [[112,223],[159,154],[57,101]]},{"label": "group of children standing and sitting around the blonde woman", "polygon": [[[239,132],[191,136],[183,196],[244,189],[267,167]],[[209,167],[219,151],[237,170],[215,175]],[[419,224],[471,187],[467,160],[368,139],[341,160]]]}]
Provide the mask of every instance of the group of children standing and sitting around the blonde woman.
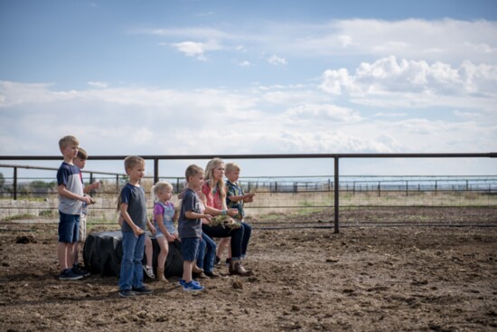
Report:
[{"label": "group of children standing and sitting around the blonde woman", "polygon": [[[78,280],[89,272],[83,270],[78,262],[78,242],[84,241],[86,236],[86,213],[84,204],[92,204],[92,199],[84,194],[92,189],[98,189],[99,182],[87,187],[83,186],[81,171],[87,159],[86,152],[79,148],[79,141],[72,136],[61,138],[59,145],[64,157],[58,174],[58,193],[60,195],[60,223],[59,223],[59,244],[58,257],[61,266],[60,280]],[[122,231],[123,257],[119,275],[119,296],[123,298],[133,297],[136,294],[148,294],[152,290],[145,287],[145,273],[154,278],[152,267],[152,245],[151,240],[145,235],[145,229],[155,235],[155,239],[160,247],[157,257],[156,274],[157,280],[166,281],[164,277],[164,266],[169,251],[169,242],[178,240],[181,242],[181,253],[183,257],[183,277],[179,280],[180,286],[186,291],[199,291],[203,287],[200,282],[193,280],[195,273],[200,278],[219,278],[214,272],[215,261],[219,261],[220,251],[216,252],[216,242],[205,232],[206,226],[209,229],[212,219],[218,215],[230,215],[233,217],[231,223],[237,223],[238,229],[233,228],[233,236],[237,243],[241,245],[243,230],[250,230],[248,224],[243,223],[243,204],[252,202],[254,194],[245,194],[237,183],[240,168],[231,163],[227,165],[227,188],[224,186],[222,197],[230,205],[217,209],[209,204],[208,199],[202,193],[204,185],[204,171],[202,167],[191,165],[186,168],[186,187],[179,195],[182,199],[179,216],[177,216],[177,229],[174,225],[176,210],[171,198],[173,196],[173,186],[166,182],[158,182],[153,186],[154,196],[154,223],[147,218],[145,190],[140,185],[145,176],[145,160],[142,157],[131,156],[125,158],[125,170],[128,175],[128,182],[125,185],[117,200],[117,210],[119,213],[119,224]],[[208,167],[209,169],[209,164]],[[211,173],[210,173],[211,174]],[[224,164],[222,163],[222,175],[224,175]],[[222,176],[221,175],[221,176]],[[217,187],[216,187],[217,188]],[[214,191],[216,190],[214,189]],[[211,194],[211,193],[208,193]],[[203,226],[202,226],[203,225]],[[245,227],[244,227],[245,225]],[[221,225],[224,227],[223,225]],[[212,227],[213,228],[213,227]],[[82,234],[80,234],[80,229]],[[203,229],[203,231],[202,231]],[[231,232],[225,233],[228,237]],[[244,249],[247,250],[250,232],[244,239]],[[224,239],[222,239],[224,240]],[[147,264],[142,265],[145,252],[145,242],[148,242]],[[229,241],[220,242],[220,250],[223,250]],[[232,244],[233,245],[233,244]],[[238,250],[238,247],[237,249]],[[239,250],[238,250],[239,251]],[[238,252],[237,251],[237,252]],[[245,252],[243,252],[243,257]],[[216,260],[217,259],[217,260]],[[230,265],[230,274],[248,275],[250,272],[241,267],[242,256],[233,258],[238,265],[233,268]]]}]

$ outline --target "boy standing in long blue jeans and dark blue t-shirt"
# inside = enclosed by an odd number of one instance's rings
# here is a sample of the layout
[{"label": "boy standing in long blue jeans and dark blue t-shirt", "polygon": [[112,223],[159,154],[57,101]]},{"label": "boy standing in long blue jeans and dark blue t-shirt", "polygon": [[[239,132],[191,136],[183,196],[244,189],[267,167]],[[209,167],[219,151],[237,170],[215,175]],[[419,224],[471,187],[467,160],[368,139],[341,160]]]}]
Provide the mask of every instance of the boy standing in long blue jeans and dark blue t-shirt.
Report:
[{"label": "boy standing in long blue jeans and dark blue t-shirt", "polygon": [[152,293],[152,290],[147,289],[143,283],[142,269],[147,217],[145,190],[140,186],[140,180],[145,176],[145,160],[136,156],[126,157],[125,169],[129,181],[121,190],[117,206],[124,220],[121,225],[123,260],[119,274],[121,298]]}]

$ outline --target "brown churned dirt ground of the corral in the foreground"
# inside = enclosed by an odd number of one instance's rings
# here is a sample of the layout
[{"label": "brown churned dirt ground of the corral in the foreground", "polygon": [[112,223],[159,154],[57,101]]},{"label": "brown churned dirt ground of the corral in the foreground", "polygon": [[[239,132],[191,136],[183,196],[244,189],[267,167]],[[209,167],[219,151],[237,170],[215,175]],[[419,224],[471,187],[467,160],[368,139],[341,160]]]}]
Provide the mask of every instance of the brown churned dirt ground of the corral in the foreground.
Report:
[{"label": "brown churned dirt ground of the corral in the foreground", "polygon": [[244,263],[255,276],[223,265],[200,293],[171,279],[134,299],[118,297],[117,277],[56,280],[56,228],[44,227],[0,232],[2,331],[497,330],[496,227],[259,229]]}]

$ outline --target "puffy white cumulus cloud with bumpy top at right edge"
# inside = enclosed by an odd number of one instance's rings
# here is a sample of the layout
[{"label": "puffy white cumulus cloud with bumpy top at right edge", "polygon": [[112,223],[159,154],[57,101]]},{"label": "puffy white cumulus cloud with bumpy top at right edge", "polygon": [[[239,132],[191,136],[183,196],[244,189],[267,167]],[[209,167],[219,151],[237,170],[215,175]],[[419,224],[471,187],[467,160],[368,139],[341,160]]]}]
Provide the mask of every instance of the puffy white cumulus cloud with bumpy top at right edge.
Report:
[{"label": "puffy white cumulus cloud with bumpy top at right edge", "polygon": [[344,68],[324,71],[320,87],[332,95],[348,94],[358,103],[368,100],[377,106],[455,106],[465,99],[464,105],[483,103],[488,109],[497,101],[497,65],[465,61],[454,68],[443,62],[398,62],[389,56],[362,62],[353,73]]}]

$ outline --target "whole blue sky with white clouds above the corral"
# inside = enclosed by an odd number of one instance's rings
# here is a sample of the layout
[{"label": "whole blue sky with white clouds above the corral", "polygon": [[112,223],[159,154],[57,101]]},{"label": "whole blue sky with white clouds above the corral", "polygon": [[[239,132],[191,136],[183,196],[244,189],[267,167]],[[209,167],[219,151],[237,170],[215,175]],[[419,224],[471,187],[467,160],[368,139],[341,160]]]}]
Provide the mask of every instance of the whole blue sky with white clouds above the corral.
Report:
[{"label": "whole blue sky with white clouds above the corral", "polygon": [[[4,156],[60,155],[68,134],[96,156],[497,151],[493,0],[0,0],[0,44]],[[246,175],[333,172],[331,161],[243,163]]]}]

